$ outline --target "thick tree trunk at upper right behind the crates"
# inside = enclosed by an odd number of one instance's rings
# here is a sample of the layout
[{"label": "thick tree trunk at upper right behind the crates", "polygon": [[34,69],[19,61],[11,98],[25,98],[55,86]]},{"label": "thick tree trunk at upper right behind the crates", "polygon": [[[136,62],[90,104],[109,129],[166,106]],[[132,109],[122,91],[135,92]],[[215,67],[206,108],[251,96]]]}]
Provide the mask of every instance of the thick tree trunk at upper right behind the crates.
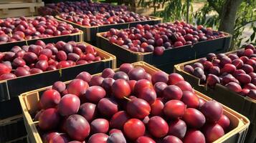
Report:
[{"label": "thick tree trunk at upper right behind the crates", "polygon": [[222,6],[220,15],[219,31],[234,34],[234,22],[242,0],[226,0]]}]

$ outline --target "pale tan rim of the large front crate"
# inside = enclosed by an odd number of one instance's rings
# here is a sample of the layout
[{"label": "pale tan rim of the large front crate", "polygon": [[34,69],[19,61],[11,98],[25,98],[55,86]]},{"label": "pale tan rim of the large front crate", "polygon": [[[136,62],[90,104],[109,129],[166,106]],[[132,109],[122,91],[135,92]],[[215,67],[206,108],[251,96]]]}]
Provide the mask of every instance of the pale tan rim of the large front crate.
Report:
[{"label": "pale tan rim of the large front crate", "polygon": [[[148,69],[151,69],[152,72],[160,71],[160,69],[157,69],[156,67],[153,67],[153,66],[151,66],[150,64],[147,64],[144,61],[138,61],[136,63],[133,63],[133,65],[149,66]],[[114,70],[118,70],[118,69],[114,69]],[[101,73],[93,74],[93,76],[100,75],[100,74]],[[70,82],[70,81],[68,81],[68,82]],[[65,83],[68,83],[68,82],[65,82]],[[49,87],[51,87],[51,86],[49,86]],[[24,99],[25,99],[25,97],[27,97],[28,94],[32,94],[32,93],[34,93],[34,96],[35,95],[39,96],[39,94],[38,94],[39,91],[45,90],[45,89],[47,89],[49,87],[44,87],[44,88],[41,88],[41,89],[36,89],[36,90],[31,91],[31,92],[25,92],[25,93],[23,93],[23,94],[21,94],[19,96],[19,101],[20,101],[20,104],[22,106],[22,112],[24,114],[24,121],[27,120],[27,122],[29,124],[29,127],[32,129],[32,133],[33,133],[34,139],[36,139],[37,142],[42,142],[42,138],[40,137],[39,132],[37,130],[37,127],[35,126],[35,124],[34,124],[34,122],[32,120],[32,117],[29,114],[29,111],[27,109],[27,105],[26,105]],[[212,100],[210,97],[207,97],[206,95],[202,94],[201,92],[198,92],[196,90],[194,90],[194,91],[196,92],[196,95],[201,97],[202,99],[207,100],[207,101]],[[221,103],[219,103],[219,104],[221,104]],[[234,128],[231,131],[227,132],[227,134],[224,134],[224,136],[222,136],[221,138],[217,139],[214,143],[224,142],[229,137],[232,137],[232,135],[237,134],[237,133],[240,134],[241,132],[244,132],[246,129],[248,129],[249,124],[250,124],[250,120],[247,119],[247,117],[243,116],[242,114],[239,114],[238,112],[235,112],[234,110],[230,109],[229,107],[226,107],[223,104],[221,104],[221,105],[222,105],[222,107],[224,109],[224,112],[226,114],[229,114],[230,116],[235,117],[238,120],[238,124],[237,124],[236,128]]]}]

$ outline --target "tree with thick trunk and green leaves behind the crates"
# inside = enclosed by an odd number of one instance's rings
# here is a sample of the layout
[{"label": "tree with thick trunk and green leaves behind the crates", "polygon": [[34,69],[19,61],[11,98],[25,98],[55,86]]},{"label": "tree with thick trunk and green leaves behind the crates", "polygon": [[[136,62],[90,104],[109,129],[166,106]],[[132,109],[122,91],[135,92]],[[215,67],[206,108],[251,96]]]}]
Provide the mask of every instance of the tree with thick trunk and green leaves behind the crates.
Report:
[{"label": "tree with thick trunk and green leaves behind the crates", "polygon": [[[143,4],[141,0],[141,4]],[[161,2],[161,0],[149,0]],[[192,24],[219,29],[233,35],[232,47],[241,46],[242,36],[248,24],[252,34],[245,37],[246,42],[255,43],[256,1],[255,0],[206,0],[202,9],[193,11],[193,0],[169,0],[164,11],[155,13],[164,21],[184,20]]]}]

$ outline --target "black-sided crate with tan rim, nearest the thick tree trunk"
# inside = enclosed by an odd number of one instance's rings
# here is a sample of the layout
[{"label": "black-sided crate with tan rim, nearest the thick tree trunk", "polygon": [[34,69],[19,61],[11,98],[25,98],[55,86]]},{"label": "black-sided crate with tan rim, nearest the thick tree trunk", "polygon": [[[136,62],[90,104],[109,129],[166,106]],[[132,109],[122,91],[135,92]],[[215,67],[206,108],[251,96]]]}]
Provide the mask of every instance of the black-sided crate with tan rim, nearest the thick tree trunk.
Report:
[{"label": "black-sided crate with tan rim, nearest the thick tree trunk", "polygon": [[166,71],[167,73],[171,73],[173,71],[174,64],[206,56],[209,52],[220,53],[227,51],[232,38],[231,35],[227,34],[227,36],[209,41],[200,41],[194,45],[185,45],[174,49],[166,49],[163,51],[163,55],[157,56],[153,54],[153,52],[135,52],[124,49],[122,46],[117,44],[111,44],[108,39],[103,37],[103,34],[104,33],[97,34],[97,46],[108,51],[110,54],[115,55],[118,61],[128,63],[145,61],[148,64],[158,67],[158,69]]}]

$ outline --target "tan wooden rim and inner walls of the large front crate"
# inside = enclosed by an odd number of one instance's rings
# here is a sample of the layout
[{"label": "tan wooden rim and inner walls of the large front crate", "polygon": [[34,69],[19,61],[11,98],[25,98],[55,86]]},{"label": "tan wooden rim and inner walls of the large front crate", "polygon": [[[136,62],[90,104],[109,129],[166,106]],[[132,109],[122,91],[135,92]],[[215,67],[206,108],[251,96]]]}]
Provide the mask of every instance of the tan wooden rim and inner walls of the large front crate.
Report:
[{"label": "tan wooden rim and inner walls of the large front crate", "polygon": [[[148,74],[154,74],[156,71],[159,71],[156,67],[153,67],[146,62],[136,62],[133,63],[133,66],[141,66],[143,69],[145,69]],[[115,71],[118,71],[118,69],[115,69]],[[100,75],[100,74],[95,74]],[[66,82],[68,84],[69,82]],[[40,134],[37,129],[38,122],[33,121],[33,117],[31,114],[34,114],[37,109],[37,103],[39,101],[39,92],[43,92],[46,89],[49,89],[50,87],[44,87],[42,89],[37,89],[31,92],[26,92],[19,96],[19,101],[22,105],[23,115],[24,115],[24,122],[25,126],[27,128],[28,132],[28,138],[32,142],[42,143],[42,137],[40,137]],[[204,99],[205,101],[212,100],[209,97],[205,96],[204,94],[195,91],[196,95]],[[220,143],[220,142],[244,142],[245,134],[247,133],[247,129],[249,127],[250,121],[242,116],[241,114],[234,112],[234,110],[229,109],[228,107],[225,107],[222,105],[224,109],[224,114],[229,117],[230,124],[232,127],[232,130],[224,134],[221,138],[217,139],[214,143]]]}]

